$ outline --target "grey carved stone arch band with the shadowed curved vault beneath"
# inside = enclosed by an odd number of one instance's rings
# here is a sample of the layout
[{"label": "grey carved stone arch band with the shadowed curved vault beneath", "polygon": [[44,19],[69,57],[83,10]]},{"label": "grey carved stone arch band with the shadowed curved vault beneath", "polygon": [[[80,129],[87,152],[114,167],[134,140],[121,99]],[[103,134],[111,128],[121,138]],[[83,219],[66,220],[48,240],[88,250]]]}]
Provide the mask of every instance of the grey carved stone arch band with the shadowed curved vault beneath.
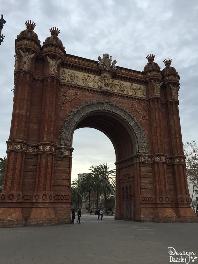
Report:
[{"label": "grey carved stone arch band with the shadowed curved vault beneath", "polygon": [[91,101],[76,107],[65,120],[61,145],[72,147],[75,129],[92,127],[109,137],[114,145],[116,161],[136,153],[147,153],[144,130],[125,108],[109,101]]}]

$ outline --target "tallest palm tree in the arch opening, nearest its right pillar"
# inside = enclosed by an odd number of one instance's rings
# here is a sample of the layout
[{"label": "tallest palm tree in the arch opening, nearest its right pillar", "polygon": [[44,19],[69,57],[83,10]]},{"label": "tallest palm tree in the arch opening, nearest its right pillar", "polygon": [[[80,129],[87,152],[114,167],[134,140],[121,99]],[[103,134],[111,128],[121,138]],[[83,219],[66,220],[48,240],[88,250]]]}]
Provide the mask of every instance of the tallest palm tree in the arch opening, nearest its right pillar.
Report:
[{"label": "tallest palm tree in the arch opening, nearest its right pillar", "polygon": [[107,192],[112,193],[112,190],[114,189],[114,183],[112,183],[113,178],[111,176],[115,177],[116,170],[109,171],[107,163],[100,164],[98,170],[100,175],[100,186],[102,185],[101,189],[105,194],[105,205],[107,205]]}]

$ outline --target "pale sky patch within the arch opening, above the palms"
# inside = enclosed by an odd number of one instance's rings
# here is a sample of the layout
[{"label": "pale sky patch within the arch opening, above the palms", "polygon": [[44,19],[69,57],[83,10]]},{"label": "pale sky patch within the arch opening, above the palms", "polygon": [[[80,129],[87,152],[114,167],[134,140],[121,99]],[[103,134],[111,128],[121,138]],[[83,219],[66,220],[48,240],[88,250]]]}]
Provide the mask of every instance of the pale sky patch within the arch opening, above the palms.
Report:
[{"label": "pale sky patch within the arch opening, above the palms", "polygon": [[76,129],[73,147],[71,180],[79,173],[89,173],[91,165],[107,163],[110,169],[116,169],[114,146],[101,131],[88,127]]}]

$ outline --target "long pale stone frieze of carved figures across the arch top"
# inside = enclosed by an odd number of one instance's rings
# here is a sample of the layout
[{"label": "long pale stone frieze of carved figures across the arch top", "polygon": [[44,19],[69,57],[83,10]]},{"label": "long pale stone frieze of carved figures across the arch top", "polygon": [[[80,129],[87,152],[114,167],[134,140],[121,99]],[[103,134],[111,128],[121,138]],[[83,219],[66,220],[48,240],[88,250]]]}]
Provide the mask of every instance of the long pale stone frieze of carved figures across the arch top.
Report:
[{"label": "long pale stone frieze of carved figures across the arch top", "polygon": [[97,76],[61,68],[60,79],[62,82],[96,88],[98,90],[105,89],[112,91],[113,93],[121,93],[146,98],[146,86],[126,81],[118,81],[112,79],[107,73]]}]

